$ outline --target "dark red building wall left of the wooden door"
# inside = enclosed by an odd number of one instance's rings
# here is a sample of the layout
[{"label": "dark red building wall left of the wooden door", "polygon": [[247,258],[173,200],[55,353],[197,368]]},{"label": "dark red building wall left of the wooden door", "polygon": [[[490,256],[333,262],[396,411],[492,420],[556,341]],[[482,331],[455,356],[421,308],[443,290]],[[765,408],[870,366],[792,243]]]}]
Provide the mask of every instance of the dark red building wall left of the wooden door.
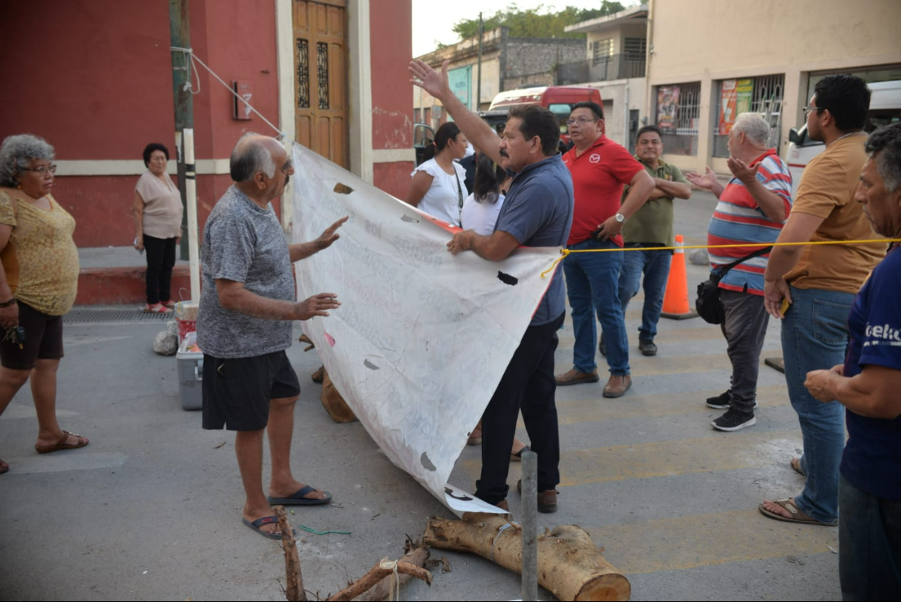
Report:
[{"label": "dark red building wall left of the wooden door", "polygon": [[[58,160],[141,160],[144,146],[158,141],[175,158],[168,3],[11,2],[3,22],[5,63],[20,67],[15,86],[0,92],[0,139],[34,133],[56,147]],[[278,123],[275,3],[191,0],[190,22],[197,56],[227,82],[250,81],[251,104]],[[203,69],[199,79],[197,160],[228,159],[243,132],[273,133],[255,115],[232,119],[232,95]],[[57,178],[54,196],[76,218],[79,247],[132,243],[137,178]],[[227,174],[198,175],[201,226],[230,184]]]}]

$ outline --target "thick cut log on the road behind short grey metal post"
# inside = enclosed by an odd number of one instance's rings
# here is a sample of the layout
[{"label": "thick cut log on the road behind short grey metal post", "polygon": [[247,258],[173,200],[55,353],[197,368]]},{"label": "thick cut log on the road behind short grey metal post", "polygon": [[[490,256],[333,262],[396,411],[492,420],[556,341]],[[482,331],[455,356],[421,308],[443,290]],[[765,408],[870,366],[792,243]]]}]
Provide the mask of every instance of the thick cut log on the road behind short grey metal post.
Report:
[{"label": "thick cut log on the road behind short grey metal post", "polygon": [[[432,517],[423,543],[441,550],[472,552],[520,572],[522,528],[504,516],[466,513],[460,521]],[[560,600],[628,600],[632,585],[614,569],[575,524],[545,530],[538,538],[538,582]]]}]

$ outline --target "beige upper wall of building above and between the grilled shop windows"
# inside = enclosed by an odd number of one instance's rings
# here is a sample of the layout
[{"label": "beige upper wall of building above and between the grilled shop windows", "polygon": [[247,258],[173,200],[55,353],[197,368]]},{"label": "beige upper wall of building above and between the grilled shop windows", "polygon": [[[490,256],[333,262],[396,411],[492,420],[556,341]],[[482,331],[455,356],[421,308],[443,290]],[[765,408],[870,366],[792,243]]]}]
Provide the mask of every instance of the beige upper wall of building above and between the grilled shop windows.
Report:
[{"label": "beige upper wall of building above and between the grilled shop windows", "polygon": [[901,63],[899,0],[651,0],[650,10],[645,113],[653,87],[701,82],[698,156],[667,157],[679,167],[709,161],[717,80],[785,74],[784,156],[789,130],[802,121],[810,72]]}]

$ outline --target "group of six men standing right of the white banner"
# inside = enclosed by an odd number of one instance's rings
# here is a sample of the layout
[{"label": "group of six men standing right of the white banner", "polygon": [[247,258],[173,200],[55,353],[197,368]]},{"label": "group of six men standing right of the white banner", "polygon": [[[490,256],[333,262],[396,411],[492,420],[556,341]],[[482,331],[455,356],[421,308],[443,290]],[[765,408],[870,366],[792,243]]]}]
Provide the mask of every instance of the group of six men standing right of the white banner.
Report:
[{"label": "group of six men standing right of the white banner", "polygon": [[787,165],[768,148],[769,123],[758,114],[740,115],[729,132],[733,177],[723,186],[709,167],[683,176],[661,161],[662,135],[654,126],[638,132],[637,154],[629,155],[605,137],[603,110],[594,103],[573,105],[567,123],[574,148],[562,156],[555,150],[560,132],[553,115],[535,105],[511,109],[498,141],[451,94],[446,68],[414,61],[409,70],[414,85],[441,101],[479,155],[512,175],[493,232],[456,233],[449,251],[503,260],[519,245],[553,245],[561,232],[570,250],[623,249],[563,260],[576,337],[573,368],[551,378],[552,331],[563,324],[565,309],[558,271],[485,411],[476,496],[507,508],[505,452],[522,412],[539,457],[538,509],[557,509],[555,388],[599,379],[595,320],[602,327],[598,351],[611,375],[603,396],[623,396],[632,386],[623,315],[642,272],[639,350],[658,351],[654,336],[670,251],[654,247],[672,246],[673,200],[690,196],[690,183],[717,197],[708,245],[730,245],[711,252],[733,367],[728,390],[706,400],[726,410],[712,426],[734,432],[755,424],[760,350],[769,316],[781,320],[788,395],[804,439],[804,454],[789,464],[805,476],[805,488],[793,498],[764,500],[760,512],[795,524],[840,524],[844,599],[896,597],[901,254],[896,244],[859,241],[901,238],[901,123],[868,138],[865,82],[850,75],[822,78],[805,116],[808,135],[826,148],[805,169],[793,197]]}]

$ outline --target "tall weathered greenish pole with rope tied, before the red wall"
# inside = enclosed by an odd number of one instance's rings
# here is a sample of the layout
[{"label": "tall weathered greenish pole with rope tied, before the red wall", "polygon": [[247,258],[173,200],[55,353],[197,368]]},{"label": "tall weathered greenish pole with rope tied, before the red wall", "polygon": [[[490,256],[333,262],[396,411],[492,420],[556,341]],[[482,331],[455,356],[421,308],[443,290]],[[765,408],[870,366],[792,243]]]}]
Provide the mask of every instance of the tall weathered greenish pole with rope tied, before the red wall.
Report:
[{"label": "tall weathered greenish pole with rope tied, before the red wall", "polygon": [[[175,48],[191,48],[191,22],[188,18],[187,5],[189,0],[169,0],[169,39]],[[187,80],[187,66],[190,59],[184,52],[173,50],[172,55],[172,102],[175,107],[175,143],[176,158],[178,164],[178,192],[181,193],[181,203],[185,207],[182,221],[181,259],[187,260],[188,239],[187,226],[187,192],[185,174],[185,153],[182,149],[182,132],[185,128],[194,127],[194,100],[191,93],[185,89]],[[195,234],[196,237],[196,234]],[[196,300],[196,299],[195,299]]]}]

